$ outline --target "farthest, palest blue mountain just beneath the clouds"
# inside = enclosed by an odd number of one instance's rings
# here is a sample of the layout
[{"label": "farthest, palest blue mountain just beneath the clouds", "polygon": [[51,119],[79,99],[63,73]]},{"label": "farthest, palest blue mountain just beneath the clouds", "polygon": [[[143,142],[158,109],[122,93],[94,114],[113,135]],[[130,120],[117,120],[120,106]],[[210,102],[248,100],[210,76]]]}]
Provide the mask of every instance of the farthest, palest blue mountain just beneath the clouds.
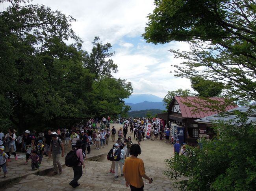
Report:
[{"label": "farthest, palest blue mountain just beneath the clouds", "polygon": [[141,103],[144,101],[162,102],[163,98],[160,98],[160,97],[152,95],[152,94],[132,94],[132,95],[130,95],[129,98],[124,99],[125,103],[132,103],[132,104],[137,104],[137,103]]}]

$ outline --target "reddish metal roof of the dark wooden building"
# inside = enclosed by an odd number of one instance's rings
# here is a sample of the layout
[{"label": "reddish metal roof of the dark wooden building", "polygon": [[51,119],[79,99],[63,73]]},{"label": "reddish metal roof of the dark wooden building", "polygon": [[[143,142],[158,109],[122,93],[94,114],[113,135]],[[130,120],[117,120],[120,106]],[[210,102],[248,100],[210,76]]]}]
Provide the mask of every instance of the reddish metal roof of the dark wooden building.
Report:
[{"label": "reddish metal roof of the dark wooden building", "polygon": [[[181,112],[183,118],[203,118],[203,117],[218,114],[221,112],[221,111],[219,111],[219,112],[213,111],[213,110],[209,109],[208,107],[204,107],[203,106],[204,104],[209,104],[209,103],[206,102],[206,100],[204,100],[203,98],[192,97],[192,96],[183,96],[183,97],[174,96],[174,99],[178,102],[178,104],[180,106],[180,112]],[[215,102],[215,104],[219,104],[219,106],[221,106],[221,103],[224,103],[224,98],[208,97],[208,99]],[[186,106],[184,104],[184,102],[189,103],[196,107]],[[226,106],[225,109],[226,109],[226,111],[228,111],[228,110],[234,109],[236,107],[239,107],[239,106],[229,105],[229,106]]]}]

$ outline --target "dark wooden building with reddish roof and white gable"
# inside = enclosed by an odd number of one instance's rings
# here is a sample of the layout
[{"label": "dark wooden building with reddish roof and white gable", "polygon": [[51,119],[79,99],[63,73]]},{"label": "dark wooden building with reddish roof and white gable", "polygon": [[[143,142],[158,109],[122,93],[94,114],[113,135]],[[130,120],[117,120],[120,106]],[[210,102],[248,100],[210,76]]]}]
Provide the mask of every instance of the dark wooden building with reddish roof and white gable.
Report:
[{"label": "dark wooden building with reddish roof and white gable", "polygon": [[[224,98],[208,97],[212,103],[221,104],[224,103]],[[213,111],[202,105],[207,105],[206,100],[203,98],[193,96],[174,96],[169,105],[167,113],[158,113],[158,118],[166,121],[166,124],[171,122],[178,126],[185,127],[185,143],[196,144],[200,135],[206,136],[214,134],[210,126],[206,124],[198,123],[195,120],[204,118],[207,116],[215,115],[218,111]],[[193,107],[196,106],[196,107]],[[234,109],[238,106],[224,106],[226,111]]]}]

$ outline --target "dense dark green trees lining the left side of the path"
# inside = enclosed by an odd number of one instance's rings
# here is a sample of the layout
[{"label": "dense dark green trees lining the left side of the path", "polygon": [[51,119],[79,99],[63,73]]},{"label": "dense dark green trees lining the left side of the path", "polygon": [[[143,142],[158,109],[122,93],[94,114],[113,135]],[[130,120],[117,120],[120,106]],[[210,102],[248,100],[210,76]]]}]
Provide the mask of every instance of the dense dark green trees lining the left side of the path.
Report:
[{"label": "dense dark green trees lining the left side of the path", "polygon": [[[0,12],[3,127],[56,128],[129,109],[122,99],[132,87],[111,76],[117,71],[111,44],[103,45],[96,37],[89,55],[71,28],[72,16],[45,5],[21,5],[30,0],[0,0],[4,2],[11,6]],[[70,39],[74,44],[64,42]]]}]

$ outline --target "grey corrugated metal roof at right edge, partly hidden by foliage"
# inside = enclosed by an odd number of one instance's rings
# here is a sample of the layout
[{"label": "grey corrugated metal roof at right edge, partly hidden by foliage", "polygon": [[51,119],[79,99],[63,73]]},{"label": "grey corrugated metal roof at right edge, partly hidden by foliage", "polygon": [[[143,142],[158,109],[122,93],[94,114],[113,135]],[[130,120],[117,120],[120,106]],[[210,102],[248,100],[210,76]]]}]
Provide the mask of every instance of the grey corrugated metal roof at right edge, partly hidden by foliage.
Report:
[{"label": "grey corrugated metal roof at right edge, partly hidden by foliage", "polygon": [[[235,109],[230,109],[230,110],[228,110],[228,112],[233,113],[234,110],[238,110],[243,113],[247,113],[247,117],[248,117],[247,124],[249,124],[250,122],[256,123],[256,109],[252,109],[252,111],[251,111],[252,113],[249,114],[248,113],[249,107],[250,106],[241,106],[241,107],[237,107]],[[197,119],[195,121],[198,123],[211,124],[211,123],[217,122],[219,120],[224,121],[224,122],[226,122],[228,120],[234,120],[234,122],[232,122],[232,124],[239,126],[240,123],[236,122],[236,117],[237,117],[237,115],[219,116],[218,114],[215,114],[215,115]]]}]

